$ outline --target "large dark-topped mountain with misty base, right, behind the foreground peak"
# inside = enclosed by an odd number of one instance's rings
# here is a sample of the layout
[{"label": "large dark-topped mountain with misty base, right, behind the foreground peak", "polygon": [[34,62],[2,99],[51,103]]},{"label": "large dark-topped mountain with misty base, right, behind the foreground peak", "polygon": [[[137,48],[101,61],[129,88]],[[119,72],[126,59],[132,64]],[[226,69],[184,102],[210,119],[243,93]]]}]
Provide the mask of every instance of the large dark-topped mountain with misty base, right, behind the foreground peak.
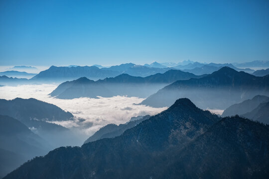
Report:
[{"label": "large dark-topped mountain with misty base, right, behind the foreground peak", "polygon": [[152,94],[141,104],[163,107],[171,105],[175,98],[188,97],[204,109],[226,109],[258,94],[269,95],[269,76],[256,77],[223,67],[200,79],[176,81]]}]

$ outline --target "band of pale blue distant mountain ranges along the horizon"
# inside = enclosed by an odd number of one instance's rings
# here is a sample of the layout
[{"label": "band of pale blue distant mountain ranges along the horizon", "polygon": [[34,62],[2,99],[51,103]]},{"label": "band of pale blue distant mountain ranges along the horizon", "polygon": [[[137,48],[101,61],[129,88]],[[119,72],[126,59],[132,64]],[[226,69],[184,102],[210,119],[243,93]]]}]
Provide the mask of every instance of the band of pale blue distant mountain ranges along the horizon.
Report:
[{"label": "band of pale blue distant mountain ranges along the horizon", "polygon": [[[247,64],[250,68],[254,68],[255,64],[258,66],[256,68],[267,67],[267,61],[253,61]],[[264,66],[263,66],[264,65]],[[266,71],[257,71],[250,68],[238,68],[240,64],[217,64],[217,63],[199,63],[193,61],[183,61],[180,63],[157,63],[153,62],[151,64],[135,65],[133,63],[121,64],[111,67],[103,67],[101,65],[93,65],[93,66],[78,66],[78,65],[69,65],[66,67],[55,67],[51,66],[49,69],[41,71],[39,74],[32,73],[33,70],[36,72],[37,69],[35,67],[29,66],[15,66],[13,68],[9,68],[8,70],[17,70],[17,71],[4,71],[0,72],[2,76],[13,77],[13,78],[26,78],[30,79],[29,81],[25,80],[14,80],[12,79],[0,79],[0,84],[2,85],[22,85],[22,84],[40,84],[40,83],[62,83],[64,81],[76,80],[81,77],[86,77],[91,80],[99,80],[110,77],[116,77],[120,74],[128,74],[135,77],[147,77],[150,75],[155,75],[157,73],[165,73],[171,69],[181,70],[184,72],[193,73],[194,75],[205,75],[211,74],[222,67],[230,67],[237,71],[244,71],[250,74],[257,74],[257,76],[265,76]],[[244,64],[241,64],[244,66]],[[248,65],[245,65],[248,66]],[[25,70],[25,72],[23,72]],[[26,73],[26,72],[31,73]]]}]

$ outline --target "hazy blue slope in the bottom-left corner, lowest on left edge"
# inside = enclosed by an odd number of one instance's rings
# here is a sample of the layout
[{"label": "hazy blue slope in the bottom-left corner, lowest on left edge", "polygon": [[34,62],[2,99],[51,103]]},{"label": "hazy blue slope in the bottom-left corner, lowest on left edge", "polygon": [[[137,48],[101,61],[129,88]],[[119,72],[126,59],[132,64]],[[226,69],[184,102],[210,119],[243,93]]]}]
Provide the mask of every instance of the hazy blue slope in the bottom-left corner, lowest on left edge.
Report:
[{"label": "hazy blue slope in the bottom-left corner, lowest on left edge", "polygon": [[35,156],[45,155],[50,146],[18,120],[0,115],[0,178]]}]

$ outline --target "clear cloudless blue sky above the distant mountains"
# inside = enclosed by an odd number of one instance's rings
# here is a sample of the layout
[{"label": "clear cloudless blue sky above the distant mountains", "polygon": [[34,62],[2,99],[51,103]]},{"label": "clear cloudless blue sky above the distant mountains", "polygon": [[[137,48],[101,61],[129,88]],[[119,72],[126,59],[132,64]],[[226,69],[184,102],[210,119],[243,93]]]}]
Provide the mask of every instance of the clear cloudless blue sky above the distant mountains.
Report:
[{"label": "clear cloudless blue sky above the distant mountains", "polygon": [[0,65],[269,60],[269,0],[0,0]]}]

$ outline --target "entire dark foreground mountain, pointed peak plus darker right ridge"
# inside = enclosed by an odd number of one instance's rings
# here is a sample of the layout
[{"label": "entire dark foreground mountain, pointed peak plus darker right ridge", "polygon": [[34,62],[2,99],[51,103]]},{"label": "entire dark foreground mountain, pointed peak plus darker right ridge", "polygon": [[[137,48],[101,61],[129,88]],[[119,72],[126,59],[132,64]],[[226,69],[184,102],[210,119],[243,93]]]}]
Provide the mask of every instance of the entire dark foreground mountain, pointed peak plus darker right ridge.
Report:
[{"label": "entire dark foreground mountain, pointed peak plus darker right ridge", "polygon": [[266,179],[268,148],[269,126],[221,119],[182,98],[121,136],[55,149],[4,179]]}]

